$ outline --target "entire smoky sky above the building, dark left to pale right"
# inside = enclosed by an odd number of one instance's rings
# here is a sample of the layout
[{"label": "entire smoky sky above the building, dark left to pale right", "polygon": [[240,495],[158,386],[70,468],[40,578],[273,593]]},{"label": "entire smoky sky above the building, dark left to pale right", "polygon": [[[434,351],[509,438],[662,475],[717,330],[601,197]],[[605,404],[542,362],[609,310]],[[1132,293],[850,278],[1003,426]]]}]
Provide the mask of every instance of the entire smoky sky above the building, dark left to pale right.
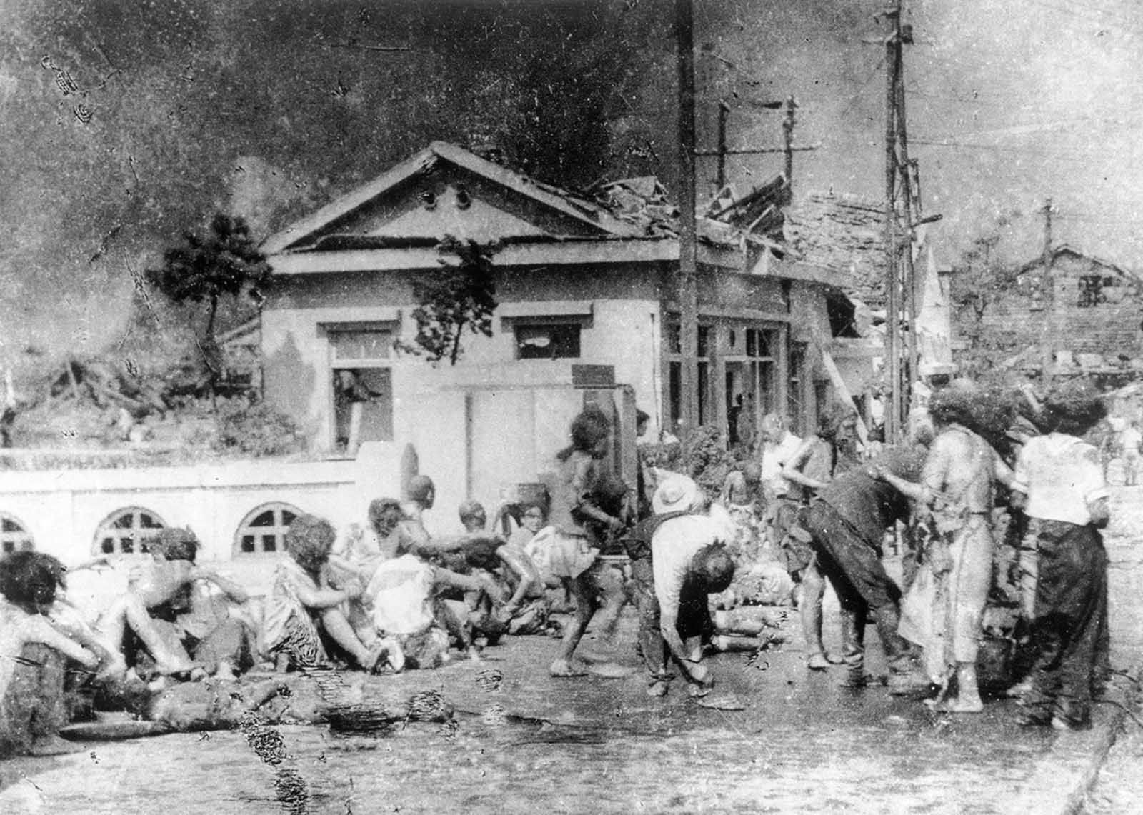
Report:
[{"label": "entire smoky sky above the building, dark left to pale right", "polygon": [[[885,1],[694,2],[700,149],[714,146],[720,99],[732,147],[777,146],[781,113],[761,104],[792,94],[796,143],[816,147],[797,154],[796,200],[879,199]],[[1057,242],[1143,271],[1143,3],[905,9],[911,155],[926,214],[942,215],[940,259],[954,264],[999,219],[1001,253],[1034,256],[1050,198]],[[2,0],[0,358],[29,344],[97,351],[121,333],[141,270],[214,209],[269,233],[434,138],[507,134],[543,181],[654,173],[673,189],[672,10]],[[394,45],[406,50],[370,50]],[[732,158],[728,169],[759,183],[781,162]],[[701,163],[700,191],[713,171]]]}]

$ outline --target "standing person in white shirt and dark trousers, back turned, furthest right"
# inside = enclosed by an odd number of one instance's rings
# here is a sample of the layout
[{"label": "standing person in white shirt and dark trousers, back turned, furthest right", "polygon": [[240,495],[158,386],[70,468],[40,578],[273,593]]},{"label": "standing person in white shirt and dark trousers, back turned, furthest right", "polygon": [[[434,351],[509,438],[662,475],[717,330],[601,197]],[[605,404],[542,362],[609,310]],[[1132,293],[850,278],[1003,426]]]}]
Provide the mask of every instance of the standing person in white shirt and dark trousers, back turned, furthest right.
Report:
[{"label": "standing person in white shirt and dark trousers, back turned, furthest right", "polygon": [[1016,460],[1015,496],[1036,538],[1031,624],[1036,662],[1021,700],[1022,724],[1057,729],[1090,726],[1092,696],[1106,672],[1108,488],[1098,452],[1081,437],[1106,415],[1085,383],[1044,400],[1046,436],[1029,439]]}]

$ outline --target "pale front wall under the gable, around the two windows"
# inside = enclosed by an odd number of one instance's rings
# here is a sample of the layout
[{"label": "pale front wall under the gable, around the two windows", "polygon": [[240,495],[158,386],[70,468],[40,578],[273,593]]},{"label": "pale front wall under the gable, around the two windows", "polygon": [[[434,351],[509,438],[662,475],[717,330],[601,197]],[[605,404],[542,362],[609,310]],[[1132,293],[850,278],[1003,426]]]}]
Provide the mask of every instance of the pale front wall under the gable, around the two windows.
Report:
[{"label": "pale front wall under the gable, around the two windows", "polygon": [[[511,362],[521,371],[566,365],[568,360],[517,360],[513,320],[526,317],[581,321],[581,358],[586,365],[609,365],[616,382],[634,387],[640,406],[653,416],[658,344],[657,274],[572,267],[559,272],[507,271],[497,280],[499,307],[493,336],[466,335],[464,354],[453,367],[431,367],[423,358],[392,358],[394,434],[408,430],[423,405],[423,391],[450,389],[466,368]],[[583,293],[591,293],[584,298]],[[333,357],[322,325],[363,322],[391,325],[411,342],[416,323],[411,273],[337,273],[281,278],[263,312],[263,352],[267,401],[290,414],[312,439],[315,449],[333,444]],[[432,386],[424,374],[431,371]],[[510,371],[505,371],[510,373]],[[505,384],[511,383],[509,376]],[[417,393],[416,403],[410,405]],[[454,407],[438,430],[451,431],[462,414]],[[653,420],[654,423],[654,420]],[[462,425],[463,426],[463,425]],[[653,428],[657,431],[657,428]]]}]

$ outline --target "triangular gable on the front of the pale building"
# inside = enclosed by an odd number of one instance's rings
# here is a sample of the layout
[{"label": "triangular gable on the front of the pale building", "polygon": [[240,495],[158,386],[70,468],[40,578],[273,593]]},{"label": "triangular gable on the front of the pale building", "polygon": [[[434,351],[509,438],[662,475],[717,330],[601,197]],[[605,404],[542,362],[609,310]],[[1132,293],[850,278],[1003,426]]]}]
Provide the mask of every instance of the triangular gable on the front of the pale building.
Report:
[{"label": "triangular gable on the front of the pale building", "polygon": [[267,255],[338,245],[641,237],[602,207],[445,142],[271,235]]}]

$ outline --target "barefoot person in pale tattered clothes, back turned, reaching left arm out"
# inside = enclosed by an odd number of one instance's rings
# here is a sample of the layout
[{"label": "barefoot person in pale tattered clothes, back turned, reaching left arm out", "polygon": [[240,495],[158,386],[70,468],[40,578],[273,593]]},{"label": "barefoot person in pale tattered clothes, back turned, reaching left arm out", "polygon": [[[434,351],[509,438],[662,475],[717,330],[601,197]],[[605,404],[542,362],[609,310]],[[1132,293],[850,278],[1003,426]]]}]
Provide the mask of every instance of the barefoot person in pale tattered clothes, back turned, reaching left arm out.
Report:
[{"label": "barefoot person in pale tattered clothes, back turned, reaching left arm out", "polygon": [[[948,387],[929,402],[937,434],[929,447],[920,484],[880,466],[884,479],[932,513],[926,554],[937,581],[934,637],[921,642],[929,678],[942,688],[934,706],[953,713],[984,709],[976,687],[981,618],[992,580],[992,482],[997,454],[969,430],[973,390]],[[957,690],[945,695],[952,679]]]}]

